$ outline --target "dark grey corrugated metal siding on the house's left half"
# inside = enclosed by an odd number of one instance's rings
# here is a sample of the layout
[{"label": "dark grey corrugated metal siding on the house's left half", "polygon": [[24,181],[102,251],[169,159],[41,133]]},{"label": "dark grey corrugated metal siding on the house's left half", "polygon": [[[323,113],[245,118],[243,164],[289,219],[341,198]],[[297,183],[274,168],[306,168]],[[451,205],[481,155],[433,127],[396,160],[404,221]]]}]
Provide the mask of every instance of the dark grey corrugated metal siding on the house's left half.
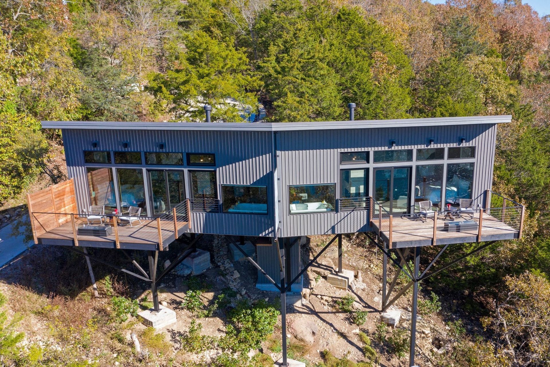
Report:
[{"label": "dark grey corrugated metal siding on the house's left half", "polygon": [[[86,166],[121,168],[212,169],[217,171],[218,198],[221,184],[267,185],[268,214],[193,213],[193,231],[234,235],[273,235],[272,133],[182,130],[75,130],[64,129],[63,140],[69,177],[75,178],[80,210],[90,205]],[[92,149],[92,141],[98,146]],[[127,149],[122,147],[128,142]],[[159,150],[164,143],[166,149]],[[183,152],[183,166],[85,165],[84,150]],[[215,153],[216,167],[187,166],[185,153]],[[113,162],[114,163],[114,162]],[[115,178],[116,179],[116,178]],[[189,197],[189,179],[185,174]],[[118,189],[117,189],[118,190]]]}]

